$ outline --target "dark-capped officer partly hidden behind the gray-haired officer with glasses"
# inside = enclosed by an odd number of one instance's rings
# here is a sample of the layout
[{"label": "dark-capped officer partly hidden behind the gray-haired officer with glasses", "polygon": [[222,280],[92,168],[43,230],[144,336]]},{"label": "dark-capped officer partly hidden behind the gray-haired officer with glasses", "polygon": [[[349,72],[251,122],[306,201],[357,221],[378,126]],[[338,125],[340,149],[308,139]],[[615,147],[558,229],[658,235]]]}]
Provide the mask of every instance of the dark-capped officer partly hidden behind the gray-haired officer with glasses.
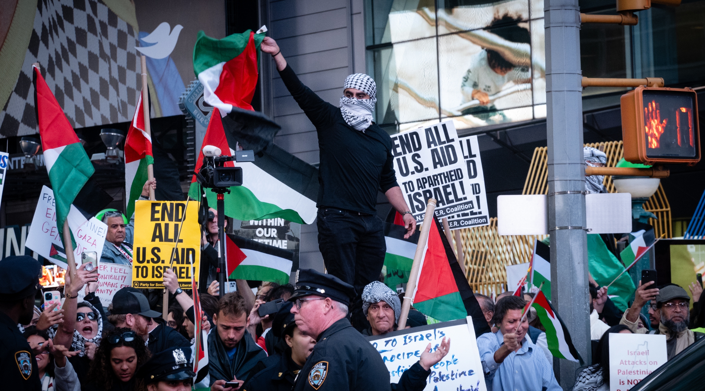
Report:
[{"label": "dark-capped officer partly hidden behind the gray-haired officer with glasses", "polygon": [[[274,315],[271,330],[278,343],[276,354],[259,361],[257,374],[243,385],[241,391],[291,391],[296,376],[305,365],[306,358],[315,346],[315,341],[303,335],[296,327],[294,314],[290,310],[293,303],[286,303]],[[262,367],[264,369],[257,369]]]}]

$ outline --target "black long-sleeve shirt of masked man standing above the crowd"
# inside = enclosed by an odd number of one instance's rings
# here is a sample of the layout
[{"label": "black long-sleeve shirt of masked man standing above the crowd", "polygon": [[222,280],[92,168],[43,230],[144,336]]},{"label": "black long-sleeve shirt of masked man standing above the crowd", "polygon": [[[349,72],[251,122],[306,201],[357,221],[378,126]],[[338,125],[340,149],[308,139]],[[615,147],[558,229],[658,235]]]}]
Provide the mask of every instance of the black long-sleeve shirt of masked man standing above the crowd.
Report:
[{"label": "black long-sleeve shirt of masked man standing above the crowd", "polygon": [[352,128],[341,109],[303,85],[290,66],[279,75],[318,133],[317,206],[376,214],[377,191],[398,186],[389,135],[376,123],[364,132]]}]

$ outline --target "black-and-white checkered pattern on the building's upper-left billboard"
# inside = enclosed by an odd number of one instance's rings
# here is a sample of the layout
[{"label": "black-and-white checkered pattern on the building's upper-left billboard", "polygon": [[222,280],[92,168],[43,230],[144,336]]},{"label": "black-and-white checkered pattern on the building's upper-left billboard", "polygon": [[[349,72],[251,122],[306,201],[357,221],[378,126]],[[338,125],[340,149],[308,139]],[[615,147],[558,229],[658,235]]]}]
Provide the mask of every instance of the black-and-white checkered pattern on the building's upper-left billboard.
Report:
[{"label": "black-and-white checkered pattern on the building's upper-left billboard", "polygon": [[20,76],[0,111],[0,137],[39,132],[32,87],[35,62],[73,128],[130,120],[141,85],[137,32],[102,1],[37,3]]}]

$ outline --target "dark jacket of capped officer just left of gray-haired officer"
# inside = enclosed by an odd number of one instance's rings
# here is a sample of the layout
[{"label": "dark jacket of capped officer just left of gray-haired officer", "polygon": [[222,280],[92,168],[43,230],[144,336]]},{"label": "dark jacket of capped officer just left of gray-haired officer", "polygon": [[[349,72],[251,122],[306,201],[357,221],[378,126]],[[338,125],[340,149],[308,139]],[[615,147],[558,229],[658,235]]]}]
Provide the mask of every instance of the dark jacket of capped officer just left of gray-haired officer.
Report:
[{"label": "dark jacket of capped officer just left of gray-haired officer", "polygon": [[291,359],[291,349],[269,356],[259,364],[265,368],[252,376],[242,391],[291,391],[301,369]]}]

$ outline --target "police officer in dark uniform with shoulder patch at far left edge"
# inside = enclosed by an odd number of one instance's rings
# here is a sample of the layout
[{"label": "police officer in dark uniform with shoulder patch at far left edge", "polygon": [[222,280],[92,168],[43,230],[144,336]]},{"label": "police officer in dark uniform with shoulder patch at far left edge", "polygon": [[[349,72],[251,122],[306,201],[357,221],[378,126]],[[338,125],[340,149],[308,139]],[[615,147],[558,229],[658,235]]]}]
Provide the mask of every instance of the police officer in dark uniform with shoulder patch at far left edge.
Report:
[{"label": "police officer in dark uniform with shoulder patch at far left edge", "polygon": [[42,265],[31,256],[8,256],[0,261],[0,379],[8,390],[42,390],[35,356],[18,323],[32,321],[35,295],[41,292]]}]

